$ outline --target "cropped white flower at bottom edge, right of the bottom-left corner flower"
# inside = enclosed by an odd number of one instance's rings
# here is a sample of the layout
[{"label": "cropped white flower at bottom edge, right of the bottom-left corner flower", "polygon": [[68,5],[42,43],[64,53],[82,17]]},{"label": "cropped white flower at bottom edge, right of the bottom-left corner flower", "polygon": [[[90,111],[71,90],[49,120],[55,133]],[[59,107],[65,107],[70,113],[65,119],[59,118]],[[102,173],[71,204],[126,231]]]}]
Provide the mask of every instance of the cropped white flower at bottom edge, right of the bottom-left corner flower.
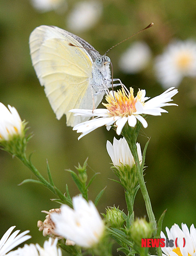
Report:
[{"label": "cropped white flower at bottom edge, right of the bottom-left corner flower", "polygon": [[7,256],[62,256],[61,249],[56,247],[57,241],[58,239],[54,240],[50,237],[44,242],[44,248],[38,244],[24,245],[23,248],[9,252]]}]

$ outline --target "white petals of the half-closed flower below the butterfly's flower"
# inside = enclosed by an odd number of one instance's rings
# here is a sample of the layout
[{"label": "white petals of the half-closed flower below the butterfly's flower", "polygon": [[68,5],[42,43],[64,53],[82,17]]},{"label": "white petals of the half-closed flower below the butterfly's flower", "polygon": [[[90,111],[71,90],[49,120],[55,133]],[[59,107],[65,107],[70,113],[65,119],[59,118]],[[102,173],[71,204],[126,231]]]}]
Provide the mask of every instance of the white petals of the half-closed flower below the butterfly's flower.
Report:
[{"label": "white petals of the half-closed flower below the butterfly's flower", "polygon": [[[113,145],[110,141],[107,141],[106,148],[114,166],[129,165],[132,168],[135,164],[129,145],[124,137],[119,140],[114,137]],[[137,143],[137,150],[139,161],[142,163],[140,143]]]}]

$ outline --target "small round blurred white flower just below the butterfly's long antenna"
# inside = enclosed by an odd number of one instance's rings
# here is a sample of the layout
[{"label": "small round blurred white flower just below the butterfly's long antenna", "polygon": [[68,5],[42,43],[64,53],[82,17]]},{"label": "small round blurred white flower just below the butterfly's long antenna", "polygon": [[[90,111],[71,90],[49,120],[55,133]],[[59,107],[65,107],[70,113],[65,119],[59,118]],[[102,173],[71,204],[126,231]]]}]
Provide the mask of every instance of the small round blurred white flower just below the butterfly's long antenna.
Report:
[{"label": "small round blurred white flower just below the butterfly's long antenna", "polygon": [[144,69],[151,59],[151,49],[145,42],[133,43],[119,60],[119,67],[125,73],[134,74]]}]

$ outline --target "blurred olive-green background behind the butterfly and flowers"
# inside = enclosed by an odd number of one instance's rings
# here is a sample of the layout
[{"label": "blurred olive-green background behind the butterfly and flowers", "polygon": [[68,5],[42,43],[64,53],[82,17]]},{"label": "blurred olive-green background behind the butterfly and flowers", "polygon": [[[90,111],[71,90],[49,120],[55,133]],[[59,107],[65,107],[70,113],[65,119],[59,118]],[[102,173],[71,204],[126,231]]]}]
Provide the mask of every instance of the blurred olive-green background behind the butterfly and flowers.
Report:
[{"label": "blurred olive-green background behind the butterfly and flowers", "polygon": [[[29,0],[0,1],[0,102],[15,106],[22,119],[28,121],[29,132],[34,137],[28,144],[27,153],[33,152],[32,161],[46,177],[46,159],[49,162],[54,182],[62,191],[68,184],[71,196],[78,190],[65,169],[88,160],[91,177],[100,172],[89,187],[89,198],[105,186],[105,193],[98,210],[105,212],[107,206],[119,205],[126,212],[122,187],[109,180],[115,178],[110,170],[111,159],[107,154],[106,141],[119,138],[113,130],[99,128],[78,141],[78,134],[67,127],[65,116],[58,121],[40,86],[29,55],[29,35],[42,24],[54,25],[69,30],[66,17],[78,1],[67,0],[65,10],[39,12]],[[129,37],[132,33],[154,22],[149,30],[117,46],[107,55],[111,58],[114,78],[120,78],[127,86],[145,89],[147,96],[156,96],[164,91],[156,81],[153,58],[174,38],[196,40],[195,0],[104,0],[102,16],[89,30],[74,32],[88,41],[101,54],[108,48]],[[63,8],[62,8],[63,9]],[[152,50],[152,61],[138,74],[123,74],[118,60],[123,51],[134,41],[143,40]],[[172,224],[196,222],[196,79],[184,78],[174,102],[178,107],[166,108],[169,113],[161,117],[149,116],[149,126],[142,129],[138,142],[142,149],[151,137],[146,156],[145,181],[152,201],[156,219],[167,209],[163,221],[169,228]],[[101,105],[100,105],[101,106]],[[17,186],[33,174],[11,155],[0,151],[0,237],[12,225],[17,229],[30,230],[31,243],[43,245],[45,238],[36,227],[37,221],[45,219],[42,210],[58,208],[51,202],[53,194],[35,184]],[[135,215],[146,215],[140,191],[136,196]],[[30,240],[27,241],[30,243]],[[118,255],[118,254],[117,254]]]}]

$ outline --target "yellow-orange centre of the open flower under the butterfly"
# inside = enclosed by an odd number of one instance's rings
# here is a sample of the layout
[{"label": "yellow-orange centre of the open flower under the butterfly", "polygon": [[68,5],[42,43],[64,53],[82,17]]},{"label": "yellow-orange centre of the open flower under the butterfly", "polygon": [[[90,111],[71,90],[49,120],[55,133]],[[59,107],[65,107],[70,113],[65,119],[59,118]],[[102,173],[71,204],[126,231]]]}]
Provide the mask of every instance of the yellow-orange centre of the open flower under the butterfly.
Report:
[{"label": "yellow-orange centre of the open flower under the butterfly", "polygon": [[137,96],[134,97],[133,89],[130,87],[130,92],[122,88],[122,90],[114,91],[110,94],[106,95],[105,99],[107,100],[107,104],[102,103],[109,111],[110,116],[123,116],[128,117],[129,115],[134,114],[136,112],[135,104],[137,101],[141,101],[142,91],[138,91]]}]

